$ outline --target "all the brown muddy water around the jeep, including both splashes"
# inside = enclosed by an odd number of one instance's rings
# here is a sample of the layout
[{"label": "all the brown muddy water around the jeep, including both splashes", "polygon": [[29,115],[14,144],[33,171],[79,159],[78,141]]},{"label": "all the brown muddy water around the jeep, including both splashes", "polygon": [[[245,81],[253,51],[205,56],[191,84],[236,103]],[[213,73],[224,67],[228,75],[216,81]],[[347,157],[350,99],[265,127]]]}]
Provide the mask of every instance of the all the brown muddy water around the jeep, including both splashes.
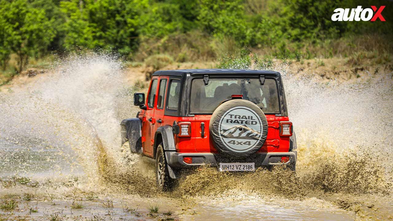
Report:
[{"label": "all the brown muddy water around the jeep, including both splashes", "polygon": [[393,219],[391,76],[319,82],[273,69],[297,173],[199,168],[170,193],[157,192],[149,160],[119,146],[138,89],[116,59],[70,57],[0,92],[0,221]]}]

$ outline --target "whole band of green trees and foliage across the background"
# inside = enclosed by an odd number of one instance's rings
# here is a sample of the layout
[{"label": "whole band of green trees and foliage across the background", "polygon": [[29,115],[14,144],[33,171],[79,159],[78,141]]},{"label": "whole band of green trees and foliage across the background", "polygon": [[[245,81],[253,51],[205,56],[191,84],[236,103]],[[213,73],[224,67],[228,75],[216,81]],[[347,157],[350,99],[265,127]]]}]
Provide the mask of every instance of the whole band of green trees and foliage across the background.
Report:
[{"label": "whole band of green trees and foliage across the background", "polygon": [[[331,21],[335,8],[358,5],[385,5],[387,21]],[[309,46],[334,39],[391,42],[392,19],[387,0],[0,0],[0,64],[6,69],[15,54],[20,72],[29,57],[84,50],[130,60],[172,50],[176,61],[187,61],[256,48],[298,59],[317,56]]]}]

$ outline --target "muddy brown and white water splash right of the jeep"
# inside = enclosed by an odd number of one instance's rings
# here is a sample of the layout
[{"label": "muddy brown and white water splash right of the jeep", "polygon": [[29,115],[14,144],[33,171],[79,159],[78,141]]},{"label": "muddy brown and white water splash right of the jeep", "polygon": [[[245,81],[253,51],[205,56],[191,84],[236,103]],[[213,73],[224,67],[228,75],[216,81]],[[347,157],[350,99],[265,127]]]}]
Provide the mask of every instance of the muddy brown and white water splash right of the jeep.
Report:
[{"label": "muddy brown and white water splash right of the jeep", "polygon": [[392,79],[322,84],[285,76],[284,81],[298,138],[298,175],[327,192],[389,191]]}]

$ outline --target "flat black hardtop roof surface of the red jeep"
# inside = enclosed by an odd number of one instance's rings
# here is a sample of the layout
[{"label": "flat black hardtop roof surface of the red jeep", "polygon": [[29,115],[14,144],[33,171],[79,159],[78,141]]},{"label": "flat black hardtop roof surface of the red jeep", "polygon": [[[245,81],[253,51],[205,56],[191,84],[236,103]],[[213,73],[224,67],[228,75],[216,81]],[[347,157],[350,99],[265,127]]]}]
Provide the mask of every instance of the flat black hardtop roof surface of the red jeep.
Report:
[{"label": "flat black hardtop roof surface of the red jeep", "polygon": [[186,74],[261,74],[280,76],[279,72],[265,70],[246,70],[246,69],[180,69],[156,71],[152,76],[185,76]]}]

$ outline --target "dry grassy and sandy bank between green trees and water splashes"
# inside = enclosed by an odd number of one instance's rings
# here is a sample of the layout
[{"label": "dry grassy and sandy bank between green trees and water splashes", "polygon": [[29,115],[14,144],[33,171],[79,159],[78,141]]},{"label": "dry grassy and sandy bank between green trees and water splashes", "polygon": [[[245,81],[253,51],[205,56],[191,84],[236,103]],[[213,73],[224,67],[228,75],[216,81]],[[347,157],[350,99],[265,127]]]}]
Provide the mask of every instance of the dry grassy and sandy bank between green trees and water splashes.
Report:
[{"label": "dry grassy and sandy bank between green trees and water splashes", "polygon": [[[88,52],[87,52],[88,53]],[[6,70],[0,71],[0,85],[15,76],[34,76],[60,59],[47,55],[31,58],[26,70],[17,70],[11,56]],[[316,74],[326,79],[353,79],[365,74],[393,72],[393,43],[386,36],[357,35],[319,42],[288,43],[241,48],[231,39],[217,41],[200,32],[173,34],[162,39],[142,41],[132,58],[120,57],[128,68],[136,68],[146,79],[156,70],[180,68],[253,68],[274,70],[286,65],[296,74]]]}]

